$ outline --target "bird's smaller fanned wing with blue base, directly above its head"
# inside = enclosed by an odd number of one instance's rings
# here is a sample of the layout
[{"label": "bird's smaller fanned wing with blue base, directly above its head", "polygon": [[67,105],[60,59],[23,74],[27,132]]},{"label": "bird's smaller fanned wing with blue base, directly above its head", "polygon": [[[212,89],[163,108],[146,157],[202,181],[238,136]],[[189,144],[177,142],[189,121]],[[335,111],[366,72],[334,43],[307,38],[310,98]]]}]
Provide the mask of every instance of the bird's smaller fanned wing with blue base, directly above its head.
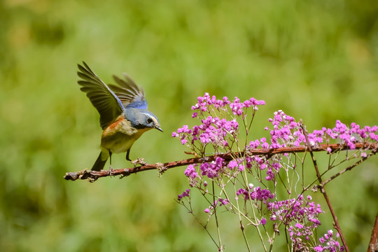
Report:
[{"label": "bird's smaller fanned wing with blue base, directly above its head", "polygon": [[109,85],[111,90],[117,95],[125,108],[147,109],[144,90],[134,83],[127,73],[123,73],[125,80],[113,76],[118,85]]}]

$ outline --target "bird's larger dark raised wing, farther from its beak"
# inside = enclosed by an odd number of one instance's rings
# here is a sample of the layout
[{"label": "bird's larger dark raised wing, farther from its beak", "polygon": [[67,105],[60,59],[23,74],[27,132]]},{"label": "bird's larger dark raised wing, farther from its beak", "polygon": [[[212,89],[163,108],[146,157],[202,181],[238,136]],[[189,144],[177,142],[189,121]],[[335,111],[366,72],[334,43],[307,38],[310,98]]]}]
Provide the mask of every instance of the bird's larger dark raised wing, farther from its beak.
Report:
[{"label": "bird's larger dark raised wing, farther from its beak", "polygon": [[123,104],[85,62],[83,62],[83,65],[78,64],[80,70],[78,76],[82,79],[78,80],[78,84],[82,86],[80,90],[87,93],[87,97],[94,108],[99,111],[100,125],[104,129],[123,113]]}]

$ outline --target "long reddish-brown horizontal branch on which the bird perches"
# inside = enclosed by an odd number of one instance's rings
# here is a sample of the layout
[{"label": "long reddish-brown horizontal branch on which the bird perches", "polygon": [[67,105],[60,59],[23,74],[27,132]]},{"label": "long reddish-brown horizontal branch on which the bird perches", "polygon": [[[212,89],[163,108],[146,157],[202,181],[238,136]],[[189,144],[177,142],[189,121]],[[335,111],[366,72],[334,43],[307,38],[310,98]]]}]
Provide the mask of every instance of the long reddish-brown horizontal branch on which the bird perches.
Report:
[{"label": "long reddish-brown horizontal branch on which the bird perches", "polygon": [[[331,149],[331,152],[335,151],[345,151],[348,147],[344,144],[321,144],[319,146],[314,146],[311,148],[311,151],[318,152],[318,151],[327,151],[327,148]],[[373,143],[357,143],[356,149],[366,149],[372,150],[373,153],[377,152],[378,144]],[[252,149],[248,150],[245,154],[252,156],[252,155],[267,155],[272,156],[274,154],[281,154],[281,153],[302,153],[309,151],[307,146],[297,146],[297,147],[288,147],[288,148],[260,148],[260,149]],[[244,152],[239,153],[239,157],[244,156]],[[199,164],[202,162],[211,162],[216,160],[216,157],[221,157],[224,160],[232,160],[232,155],[230,153],[219,154],[219,155],[211,155],[204,158],[189,158],[187,160],[180,160],[176,162],[166,162],[166,163],[156,163],[156,164],[144,164],[138,167],[133,168],[126,168],[126,169],[113,169],[111,172],[109,171],[101,171],[95,172],[90,171],[87,169],[83,169],[79,172],[67,172],[64,176],[64,179],[75,181],[77,179],[87,179],[91,182],[96,181],[97,179],[104,177],[104,176],[118,176],[120,175],[120,179],[124,176],[128,176],[130,174],[134,174],[137,172],[148,171],[151,169],[158,169],[160,173],[165,172],[167,169],[171,169],[174,167],[181,167],[185,165],[193,165]]]}]

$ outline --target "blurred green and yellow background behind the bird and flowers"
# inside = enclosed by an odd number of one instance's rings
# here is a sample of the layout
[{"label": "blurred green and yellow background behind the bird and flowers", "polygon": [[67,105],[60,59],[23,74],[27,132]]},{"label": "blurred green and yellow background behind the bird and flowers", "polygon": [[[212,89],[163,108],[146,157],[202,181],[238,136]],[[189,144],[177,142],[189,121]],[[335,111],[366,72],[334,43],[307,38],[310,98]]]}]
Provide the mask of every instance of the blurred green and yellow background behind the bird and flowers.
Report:
[{"label": "blurred green and yellow background behind the bird and flowers", "polygon": [[[0,1],[0,251],[216,251],[175,202],[188,188],[184,167],[64,181],[99,153],[77,63],[106,83],[127,71],[143,85],[165,132],[144,134],[130,157],[168,162],[188,158],[171,134],[193,124],[204,92],[264,99],[254,138],[279,109],[309,130],[337,119],[377,125],[377,18],[374,0]],[[125,155],[113,162],[130,167]],[[377,169],[374,157],[328,187],[351,251],[370,239]],[[226,249],[245,251],[227,218]],[[332,228],[327,217],[322,228]]]}]

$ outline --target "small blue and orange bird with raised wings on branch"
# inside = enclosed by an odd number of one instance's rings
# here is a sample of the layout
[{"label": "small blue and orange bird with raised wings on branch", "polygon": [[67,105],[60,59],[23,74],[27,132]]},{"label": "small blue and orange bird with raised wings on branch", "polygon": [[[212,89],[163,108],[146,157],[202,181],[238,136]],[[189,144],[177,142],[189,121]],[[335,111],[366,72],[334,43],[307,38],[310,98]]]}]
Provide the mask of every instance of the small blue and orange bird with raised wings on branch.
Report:
[{"label": "small blue and orange bird with raised wings on branch", "polygon": [[85,62],[78,64],[78,84],[87,94],[94,108],[99,111],[102,127],[101,152],[92,171],[104,168],[112,153],[125,153],[130,160],[130,148],[141,135],[151,129],[162,132],[158,118],[147,110],[144,90],[123,73],[124,80],[113,76],[118,85],[106,85]]}]

